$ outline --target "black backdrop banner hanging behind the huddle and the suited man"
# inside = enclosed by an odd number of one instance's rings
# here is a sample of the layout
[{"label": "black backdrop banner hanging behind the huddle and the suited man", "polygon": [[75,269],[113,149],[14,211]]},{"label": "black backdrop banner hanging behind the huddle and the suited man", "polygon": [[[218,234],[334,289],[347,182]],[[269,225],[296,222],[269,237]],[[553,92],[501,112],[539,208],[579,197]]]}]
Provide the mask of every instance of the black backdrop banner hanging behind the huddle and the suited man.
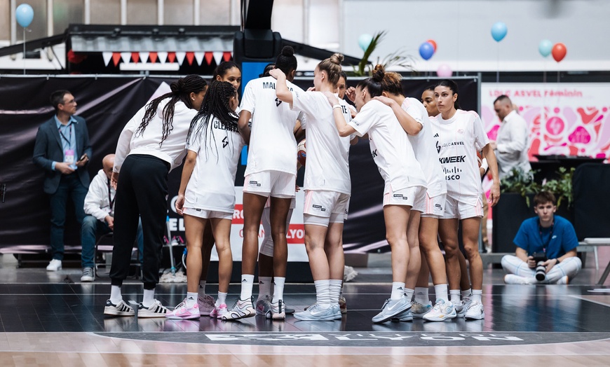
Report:
[{"label": "black backdrop banner hanging behind the huddle and the suited man", "polygon": [[[48,97],[65,89],[76,98],[77,115],[87,121],[93,157],[87,169],[93,178],[102,167],[104,155],[114,153],[118,135],[128,120],[159,88],[168,88],[169,77],[143,76],[0,76],[0,185],[6,185],[5,201],[0,202],[0,251],[21,252],[43,249],[49,242],[49,200],[43,193],[43,172],[32,162],[38,127],[53,116]],[[477,78],[456,78],[463,109],[478,110]],[[311,78],[295,81],[301,88],[312,85]],[[348,85],[355,85],[355,78]],[[405,93],[419,99],[430,79],[406,79]],[[241,161],[241,160],[240,160]],[[240,165],[236,186],[243,186],[245,166]],[[301,170],[302,171],[302,170]],[[170,174],[168,207],[179,187],[182,169]],[[370,157],[366,141],[350,151],[352,197],[350,215],[345,223],[346,251],[387,251],[384,217],[381,206],[384,182]],[[302,172],[299,180],[302,184]],[[168,214],[176,223],[173,235],[182,235],[182,223],[172,210]],[[80,235],[74,210],[68,207],[65,243],[79,246]]]}]

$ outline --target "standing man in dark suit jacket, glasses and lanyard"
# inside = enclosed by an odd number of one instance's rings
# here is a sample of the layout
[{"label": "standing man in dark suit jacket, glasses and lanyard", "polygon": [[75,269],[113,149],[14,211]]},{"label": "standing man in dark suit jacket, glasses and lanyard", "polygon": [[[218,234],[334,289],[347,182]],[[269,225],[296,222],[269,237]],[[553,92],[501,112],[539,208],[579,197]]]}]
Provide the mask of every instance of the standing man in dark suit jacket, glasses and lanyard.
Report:
[{"label": "standing man in dark suit jacket, glasses and lanyard", "polygon": [[67,90],[50,95],[55,116],[43,123],[36,133],[34,164],[44,169],[44,192],[50,198],[50,246],[53,259],[48,271],[62,268],[64,257],[64,223],[68,198],[72,198],[76,221],[83,223],[85,196],[89,186],[86,165],[91,156],[85,119],[74,116],[76,101]]}]

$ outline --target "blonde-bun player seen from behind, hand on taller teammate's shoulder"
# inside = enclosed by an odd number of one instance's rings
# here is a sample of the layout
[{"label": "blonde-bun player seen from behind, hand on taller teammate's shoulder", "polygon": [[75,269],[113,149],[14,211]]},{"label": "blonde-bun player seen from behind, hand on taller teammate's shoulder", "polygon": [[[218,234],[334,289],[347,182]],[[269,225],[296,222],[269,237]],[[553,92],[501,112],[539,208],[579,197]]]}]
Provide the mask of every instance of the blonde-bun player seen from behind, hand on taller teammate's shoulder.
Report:
[{"label": "blonde-bun player seen from behind, hand on taller teammate's shoulder", "polygon": [[307,169],[305,171],[305,247],[316,285],[316,305],[294,314],[299,320],[328,321],[341,319],[339,293],[344,275],[341,247],[344,217],[351,193],[348,153],[349,137],[339,137],[333,109],[341,110],[344,120],[351,115],[346,106],[330,106],[324,93],[334,93],[341,73],[343,55],[334,54],[320,62],[313,71],[315,91],[291,92],[282,71],[274,69],[278,79],[276,95],[280,101],[306,116]]}]

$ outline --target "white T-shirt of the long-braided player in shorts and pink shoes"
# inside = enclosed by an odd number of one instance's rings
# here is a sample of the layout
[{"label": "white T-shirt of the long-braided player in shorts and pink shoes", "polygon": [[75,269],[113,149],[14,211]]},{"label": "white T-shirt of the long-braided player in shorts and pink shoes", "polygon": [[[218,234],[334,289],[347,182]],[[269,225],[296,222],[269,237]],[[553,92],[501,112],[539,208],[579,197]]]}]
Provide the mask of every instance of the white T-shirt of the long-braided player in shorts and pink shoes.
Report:
[{"label": "white T-shirt of the long-braided player in shorts and pink shoes", "polygon": [[225,127],[213,116],[205,131],[202,127],[196,133],[194,128],[187,148],[197,158],[184,192],[184,207],[233,213],[235,174],[243,146],[237,127]]}]

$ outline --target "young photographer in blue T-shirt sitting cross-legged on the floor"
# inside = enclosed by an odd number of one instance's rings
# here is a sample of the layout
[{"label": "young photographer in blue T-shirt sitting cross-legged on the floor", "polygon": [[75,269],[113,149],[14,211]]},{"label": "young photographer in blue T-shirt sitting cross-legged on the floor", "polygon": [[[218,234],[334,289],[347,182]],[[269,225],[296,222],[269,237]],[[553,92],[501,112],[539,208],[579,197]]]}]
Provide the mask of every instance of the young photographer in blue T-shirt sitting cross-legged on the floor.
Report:
[{"label": "young photographer in blue T-shirt sitting cross-legged on the floor", "polygon": [[555,195],[548,191],[534,196],[538,216],[521,223],[513,240],[516,256],[502,258],[502,268],[508,273],[506,284],[568,284],[581,270],[574,226],[555,215],[556,204]]}]

